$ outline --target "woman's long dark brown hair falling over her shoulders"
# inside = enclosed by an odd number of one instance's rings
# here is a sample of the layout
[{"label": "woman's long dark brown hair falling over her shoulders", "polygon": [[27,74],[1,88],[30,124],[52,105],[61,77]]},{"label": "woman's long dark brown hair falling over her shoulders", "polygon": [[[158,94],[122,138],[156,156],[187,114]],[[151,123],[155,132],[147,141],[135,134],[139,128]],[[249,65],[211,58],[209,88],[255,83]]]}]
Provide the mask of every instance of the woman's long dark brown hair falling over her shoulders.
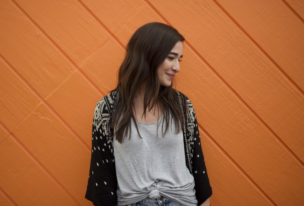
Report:
[{"label": "woman's long dark brown hair falling over her shoulders", "polygon": [[118,94],[112,127],[115,128],[116,140],[120,143],[127,137],[128,132],[131,134],[131,118],[137,128],[133,114],[133,98],[144,82],[146,82],[146,88],[143,98],[143,115],[145,116],[147,110],[155,108],[157,102],[160,102],[164,108],[163,121],[166,125],[163,135],[169,127],[169,113],[177,128],[176,132],[181,131],[183,113],[177,103],[175,90],[172,84],[169,87],[160,84],[157,68],[168,57],[175,44],[184,40],[185,38],[176,29],[159,22],[141,26],[131,37],[126,47],[126,56],[119,67],[118,84],[115,89]]}]

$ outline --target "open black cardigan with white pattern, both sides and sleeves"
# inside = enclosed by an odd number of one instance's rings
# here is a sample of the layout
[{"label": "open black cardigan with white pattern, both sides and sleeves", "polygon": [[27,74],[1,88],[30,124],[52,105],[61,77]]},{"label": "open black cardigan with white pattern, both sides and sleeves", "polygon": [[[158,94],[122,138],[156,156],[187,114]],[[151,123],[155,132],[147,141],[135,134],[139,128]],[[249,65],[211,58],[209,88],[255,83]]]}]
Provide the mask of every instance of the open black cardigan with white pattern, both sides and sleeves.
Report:
[{"label": "open black cardigan with white pattern, both sides and sleeves", "polygon": [[[186,165],[195,181],[195,195],[198,205],[212,194],[205,166],[199,129],[191,101],[176,91],[178,103],[184,111],[184,145]],[[113,128],[111,120],[114,114],[117,92],[106,95],[98,101],[93,118],[92,155],[90,174],[85,198],[94,205],[117,205],[117,178],[113,151]],[[186,108],[187,105],[187,108]]]}]

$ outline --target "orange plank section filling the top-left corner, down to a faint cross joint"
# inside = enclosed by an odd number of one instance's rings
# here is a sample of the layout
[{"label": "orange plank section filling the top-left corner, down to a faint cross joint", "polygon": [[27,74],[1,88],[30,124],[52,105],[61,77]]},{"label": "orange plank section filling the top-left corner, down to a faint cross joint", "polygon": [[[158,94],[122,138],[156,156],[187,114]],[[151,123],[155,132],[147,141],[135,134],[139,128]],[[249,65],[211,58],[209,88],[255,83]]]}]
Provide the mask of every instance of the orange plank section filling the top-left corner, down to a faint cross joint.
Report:
[{"label": "orange plank section filling the top-left corner, down to a faint cross joint", "polygon": [[10,1],[0,4],[1,55],[46,97],[74,68],[15,5]]}]

